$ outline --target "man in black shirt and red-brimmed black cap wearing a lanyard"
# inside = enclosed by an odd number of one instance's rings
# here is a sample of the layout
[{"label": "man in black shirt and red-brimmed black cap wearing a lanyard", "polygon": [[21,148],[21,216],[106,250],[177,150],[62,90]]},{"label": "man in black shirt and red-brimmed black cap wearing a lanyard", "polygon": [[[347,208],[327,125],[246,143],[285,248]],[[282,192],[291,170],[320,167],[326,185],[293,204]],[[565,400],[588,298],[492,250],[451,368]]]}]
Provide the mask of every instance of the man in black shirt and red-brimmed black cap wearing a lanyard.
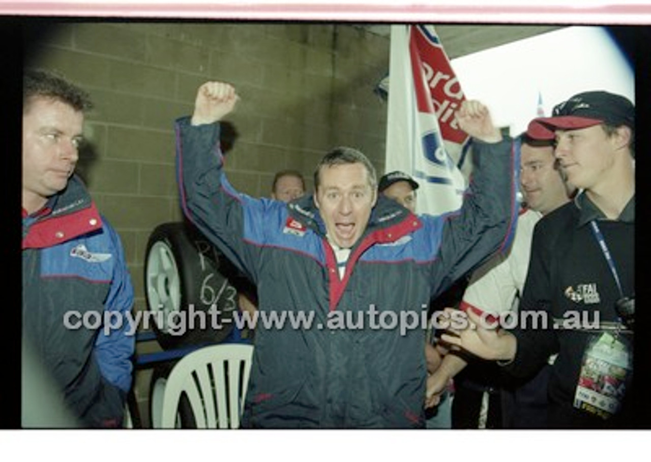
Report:
[{"label": "man in black shirt and red-brimmed black cap wearing a lanyard", "polygon": [[534,230],[518,329],[487,329],[469,312],[477,329],[443,336],[522,377],[558,353],[551,428],[636,426],[634,132],[633,104],[603,91],[577,94],[529,124],[535,137],[555,140],[559,165],[581,192]]}]

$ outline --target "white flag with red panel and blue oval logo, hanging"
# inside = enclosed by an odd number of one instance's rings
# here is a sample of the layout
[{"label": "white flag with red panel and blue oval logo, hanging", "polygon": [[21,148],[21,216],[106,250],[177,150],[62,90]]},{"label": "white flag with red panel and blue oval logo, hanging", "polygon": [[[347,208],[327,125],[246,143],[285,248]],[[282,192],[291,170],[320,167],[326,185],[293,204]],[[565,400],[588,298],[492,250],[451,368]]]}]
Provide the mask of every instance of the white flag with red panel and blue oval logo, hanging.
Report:
[{"label": "white flag with red panel and blue oval logo, hanging", "polygon": [[[419,183],[417,211],[458,210],[467,135],[454,120],[464,93],[432,26],[391,26],[385,170]],[[467,172],[469,174],[469,172]]]}]

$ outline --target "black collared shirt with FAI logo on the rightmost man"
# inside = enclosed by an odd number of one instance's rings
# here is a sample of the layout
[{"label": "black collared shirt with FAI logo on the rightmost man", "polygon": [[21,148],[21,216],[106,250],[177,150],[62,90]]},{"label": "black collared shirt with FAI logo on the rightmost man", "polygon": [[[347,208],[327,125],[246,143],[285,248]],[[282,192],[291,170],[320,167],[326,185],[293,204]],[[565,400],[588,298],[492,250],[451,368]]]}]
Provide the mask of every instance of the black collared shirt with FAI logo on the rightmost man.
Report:
[{"label": "black collared shirt with FAI logo on the rightmost man", "polygon": [[[516,357],[505,368],[520,377],[533,376],[547,358],[559,353],[548,385],[551,428],[634,428],[629,388],[622,410],[603,420],[574,409],[581,362],[590,340],[619,325],[615,303],[621,294],[594,236],[595,220],[615,262],[625,296],[635,297],[635,196],[616,220],[607,219],[585,194],[547,214],[534,229],[529,273],[520,303],[520,321],[530,321],[513,333]],[[541,329],[542,317],[547,329]],[[571,323],[575,319],[577,322]],[[564,328],[553,327],[565,321]],[[569,325],[569,324],[572,325]],[[632,347],[632,333],[621,332]]]}]

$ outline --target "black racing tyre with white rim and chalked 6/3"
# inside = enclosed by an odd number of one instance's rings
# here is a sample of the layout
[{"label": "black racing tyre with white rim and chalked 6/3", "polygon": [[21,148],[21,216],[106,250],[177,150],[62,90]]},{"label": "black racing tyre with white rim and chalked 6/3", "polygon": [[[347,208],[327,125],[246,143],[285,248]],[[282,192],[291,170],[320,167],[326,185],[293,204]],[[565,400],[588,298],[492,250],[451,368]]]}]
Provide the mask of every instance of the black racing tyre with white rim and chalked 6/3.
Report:
[{"label": "black racing tyre with white rim and chalked 6/3", "polygon": [[219,272],[219,253],[208,239],[190,224],[163,223],[150,235],[145,255],[147,308],[160,346],[225,340],[233,329],[236,290]]}]

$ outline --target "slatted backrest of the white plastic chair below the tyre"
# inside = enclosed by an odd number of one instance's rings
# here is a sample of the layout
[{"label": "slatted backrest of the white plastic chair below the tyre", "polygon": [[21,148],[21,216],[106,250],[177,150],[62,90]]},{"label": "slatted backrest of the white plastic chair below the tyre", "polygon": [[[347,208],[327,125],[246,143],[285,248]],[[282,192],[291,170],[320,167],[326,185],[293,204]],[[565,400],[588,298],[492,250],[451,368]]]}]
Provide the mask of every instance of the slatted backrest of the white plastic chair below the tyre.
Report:
[{"label": "slatted backrest of the white plastic chair below the tyre", "polygon": [[162,428],[174,428],[183,393],[197,428],[239,428],[253,345],[218,344],[187,354],[167,377]]}]

